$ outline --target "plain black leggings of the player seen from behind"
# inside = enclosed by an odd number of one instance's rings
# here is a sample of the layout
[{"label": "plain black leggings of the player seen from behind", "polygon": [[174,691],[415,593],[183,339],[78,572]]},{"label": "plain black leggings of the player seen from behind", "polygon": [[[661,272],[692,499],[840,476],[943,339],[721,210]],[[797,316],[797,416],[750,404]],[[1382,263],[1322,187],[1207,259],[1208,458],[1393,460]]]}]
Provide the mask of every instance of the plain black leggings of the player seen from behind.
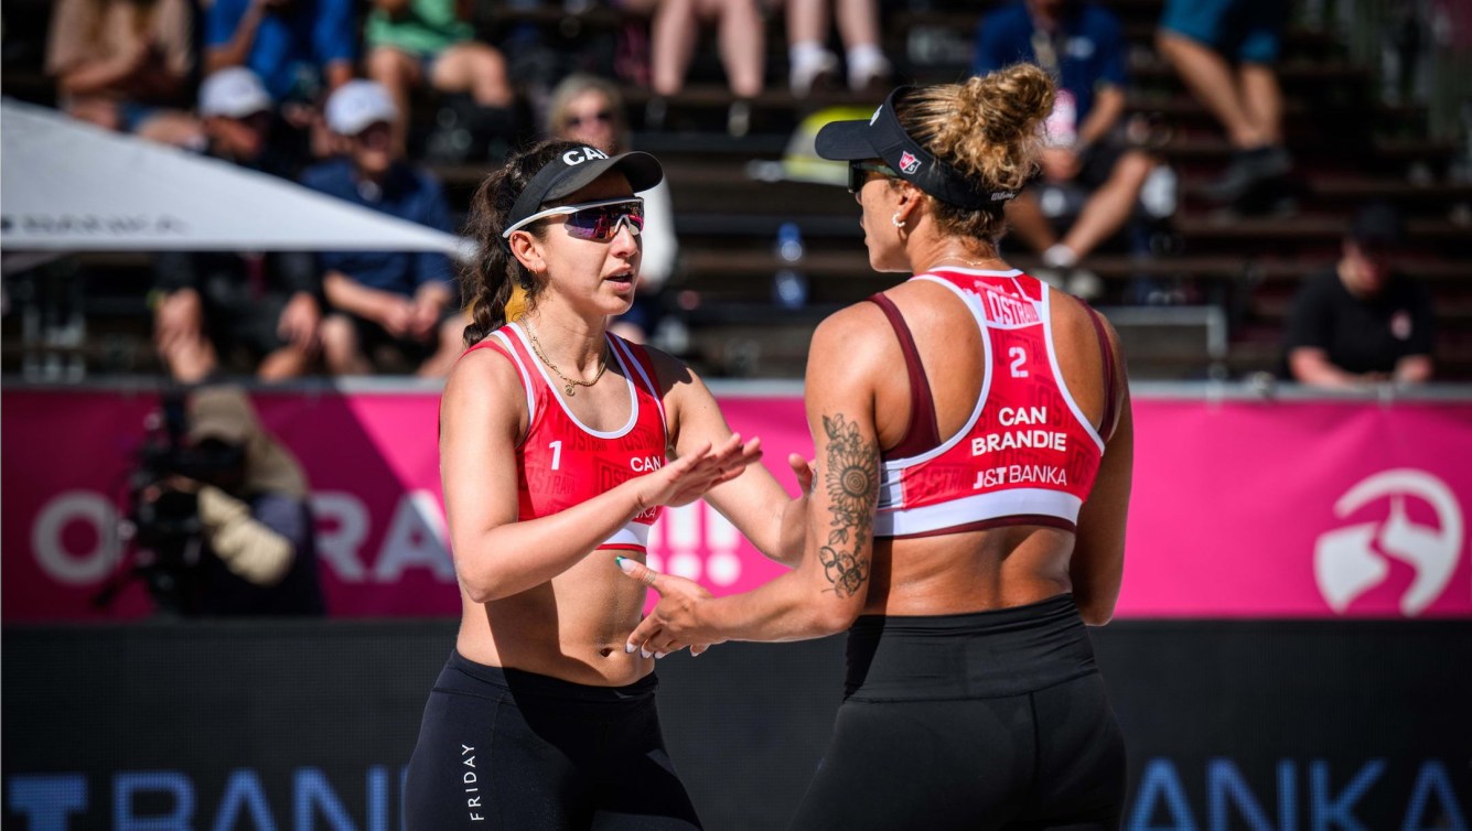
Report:
[{"label": "plain black leggings of the player seen from behind", "polygon": [[866,615],[793,830],[1113,830],[1125,741],[1072,596]]}]

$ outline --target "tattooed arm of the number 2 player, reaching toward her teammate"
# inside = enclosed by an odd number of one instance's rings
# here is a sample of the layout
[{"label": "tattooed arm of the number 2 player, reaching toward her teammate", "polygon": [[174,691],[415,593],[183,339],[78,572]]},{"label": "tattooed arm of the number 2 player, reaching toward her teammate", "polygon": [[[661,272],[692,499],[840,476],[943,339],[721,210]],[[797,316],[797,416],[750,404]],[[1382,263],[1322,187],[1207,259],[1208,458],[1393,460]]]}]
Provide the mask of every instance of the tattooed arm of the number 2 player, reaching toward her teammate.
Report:
[{"label": "tattooed arm of the number 2 player, reaching toward her teammate", "polygon": [[814,638],[848,628],[863,610],[879,496],[874,378],[880,375],[866,328],[871,327],[861,310],[845,309],[813,335],[805,396],[818,478],[798,568],[748,593],[707,599],[689,581],[649,577],[631,563],[631,577],[662,594],[630,635],[631,647],[668,653],[726,640]]}]

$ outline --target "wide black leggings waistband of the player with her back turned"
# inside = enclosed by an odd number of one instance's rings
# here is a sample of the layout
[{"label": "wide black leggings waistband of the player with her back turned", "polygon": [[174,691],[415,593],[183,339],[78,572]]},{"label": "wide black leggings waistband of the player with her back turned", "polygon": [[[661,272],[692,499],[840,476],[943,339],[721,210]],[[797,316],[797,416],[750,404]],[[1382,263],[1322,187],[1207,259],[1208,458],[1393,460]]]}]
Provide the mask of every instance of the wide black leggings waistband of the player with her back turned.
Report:
[{"label": "wide black leggings waistband of the player with her back turned", "polygon": [[863,615],[845,696],[870,702],[1016,696],[1097,672],[1072,594],[960,615]]}]

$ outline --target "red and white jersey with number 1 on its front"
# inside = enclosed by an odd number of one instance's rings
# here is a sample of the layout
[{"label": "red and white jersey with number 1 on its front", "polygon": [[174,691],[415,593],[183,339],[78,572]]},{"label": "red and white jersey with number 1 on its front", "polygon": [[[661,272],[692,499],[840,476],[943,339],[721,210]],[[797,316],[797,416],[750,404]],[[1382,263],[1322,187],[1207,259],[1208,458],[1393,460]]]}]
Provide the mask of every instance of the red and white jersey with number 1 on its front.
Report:
[{"label": "red and white jersey with number 1 on its front", "polygon": [[[618,335],[606,337],[630,404],[629,421],[608,432],[589,428],[567,409],[517,324],[506,324],[471,347],[505,354],[527,394],[527,435],[517,446],[517,519],[549,516],[664,466],[668,429],[649,353]],[[649,527],[662,510],[645,510],[598,547],[643,550]]]}]

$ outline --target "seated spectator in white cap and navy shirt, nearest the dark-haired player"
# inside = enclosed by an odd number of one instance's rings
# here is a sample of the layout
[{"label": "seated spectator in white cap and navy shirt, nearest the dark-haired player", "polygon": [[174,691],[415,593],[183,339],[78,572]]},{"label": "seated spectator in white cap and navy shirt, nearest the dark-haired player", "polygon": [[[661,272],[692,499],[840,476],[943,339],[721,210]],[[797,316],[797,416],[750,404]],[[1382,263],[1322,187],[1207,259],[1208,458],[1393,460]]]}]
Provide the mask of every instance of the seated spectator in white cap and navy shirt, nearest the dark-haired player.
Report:
[{"label": "seated spectator in white cap and navy shirt, nearest the dark-haired player", "polygon": [[[411,222],[450,231],[440,184],[393,151],[399,110],[383,85],[349,81],[327,99],[327,128],[346,153],[302,174],[306,187]],[[450,260],[439,252],[328,252],[319,256],[330,307],[322,359],[334,375],[384,360],[445,375],[464,350]]]}]

